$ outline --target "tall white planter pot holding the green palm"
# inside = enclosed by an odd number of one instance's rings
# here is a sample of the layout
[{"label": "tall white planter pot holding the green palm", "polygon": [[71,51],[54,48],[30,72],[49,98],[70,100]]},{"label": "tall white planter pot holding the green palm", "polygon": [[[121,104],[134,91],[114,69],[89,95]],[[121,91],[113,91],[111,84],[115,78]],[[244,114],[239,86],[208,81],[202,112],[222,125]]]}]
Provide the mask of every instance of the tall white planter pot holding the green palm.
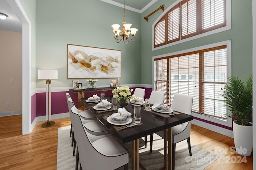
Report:
[{"label": "tall white planter pot holding the green palm", "polygon": [[236,152],[242,156],[250,156],[252,153],[252,126],[238,125],[233,121],[233,133]]}]

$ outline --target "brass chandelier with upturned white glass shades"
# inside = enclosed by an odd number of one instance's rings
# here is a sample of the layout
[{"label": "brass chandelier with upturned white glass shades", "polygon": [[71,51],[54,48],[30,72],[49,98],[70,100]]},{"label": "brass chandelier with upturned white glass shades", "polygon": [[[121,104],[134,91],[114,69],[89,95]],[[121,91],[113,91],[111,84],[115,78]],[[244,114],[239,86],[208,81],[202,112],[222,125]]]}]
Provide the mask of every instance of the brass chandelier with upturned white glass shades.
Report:
[{"label": "brass chandelier with upturned white glass shades", "polygon": [[[125,8],[124,8],[124,16],[125,16]],[[119,27],[120,27],[119,24],[111,25],[114,29],[113,32],[114,32],[114,38],[116,39],[116,42],[119,43],[121,40],[123,40],[124,43],[126,43],[126,44],[128,42],[130,42],[130,43],[133,42],[135,40],[134,35],[136,34],[136,31],[138,31],[138,29],[130,28],[132,24],[126,23],[125,20],[122,23],[123,23],[122,24],[122,26],[123,26],[122,30],[119,29]],[[120,39],[118,38],[119,33],[120,33],[120,36],[121,36]],[[132,34],[132,37],[130,37],[130,40],[128,40],[130,33]]]}]

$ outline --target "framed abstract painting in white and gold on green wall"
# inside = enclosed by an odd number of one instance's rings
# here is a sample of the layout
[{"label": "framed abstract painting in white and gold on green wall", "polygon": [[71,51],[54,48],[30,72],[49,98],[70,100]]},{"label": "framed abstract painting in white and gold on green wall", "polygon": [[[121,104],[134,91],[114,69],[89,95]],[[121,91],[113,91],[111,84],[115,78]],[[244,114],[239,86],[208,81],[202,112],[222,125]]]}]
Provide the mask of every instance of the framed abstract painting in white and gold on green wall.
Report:
[{"label": "framed abstract painting in white and gold on green wall", "polygon": [[121,77],[121,50],[67,45],[68,78]]}]

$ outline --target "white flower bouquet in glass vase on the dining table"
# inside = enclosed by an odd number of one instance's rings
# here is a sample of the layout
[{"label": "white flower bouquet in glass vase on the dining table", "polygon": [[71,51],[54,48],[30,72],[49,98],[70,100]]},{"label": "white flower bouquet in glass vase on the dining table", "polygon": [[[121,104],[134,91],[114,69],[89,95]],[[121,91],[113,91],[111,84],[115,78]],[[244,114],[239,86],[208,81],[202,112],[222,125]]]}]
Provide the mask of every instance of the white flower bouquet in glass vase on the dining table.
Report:
[{"label": "white flower bouquet in glass vase on the dining table", "polygon": [[128,86],[123,86],[115,88],[112,93],[113,97],[117,98],[119,105],[125,107],[128,105],[129,99],[132,98],[132,91],[133,89],[130,90]]}]

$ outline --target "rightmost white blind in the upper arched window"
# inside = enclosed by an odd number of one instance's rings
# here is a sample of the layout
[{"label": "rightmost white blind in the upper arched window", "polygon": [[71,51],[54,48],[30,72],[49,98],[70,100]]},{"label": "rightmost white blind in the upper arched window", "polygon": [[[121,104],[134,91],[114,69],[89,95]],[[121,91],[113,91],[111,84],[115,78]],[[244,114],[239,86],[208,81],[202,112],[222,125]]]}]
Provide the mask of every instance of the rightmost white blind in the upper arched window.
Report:
[{"label": "rightmost white blind in the upper arched window", "polygon": [[224,22],[224,0],[202,0],[202,29]]}]

